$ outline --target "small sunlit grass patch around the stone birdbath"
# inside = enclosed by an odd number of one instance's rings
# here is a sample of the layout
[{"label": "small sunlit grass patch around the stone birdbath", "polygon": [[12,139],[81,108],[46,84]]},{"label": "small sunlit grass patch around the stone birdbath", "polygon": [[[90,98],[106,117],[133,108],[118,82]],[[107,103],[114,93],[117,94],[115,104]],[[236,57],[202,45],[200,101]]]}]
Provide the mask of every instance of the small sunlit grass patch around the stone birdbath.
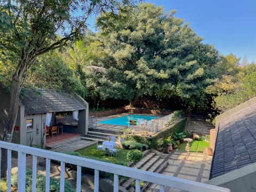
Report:
[{"label": "small sunlit grass patch around the stone birdbath", "polygon": [[[178,149],[179,151],[186,151],[187,142],[183,142],[179,145]],[[197,152],[197,153],[203,153],[205,147],[209,147],[210,143],[206,142],[205,140],[195,140],[190,142],[190,152]]]}]

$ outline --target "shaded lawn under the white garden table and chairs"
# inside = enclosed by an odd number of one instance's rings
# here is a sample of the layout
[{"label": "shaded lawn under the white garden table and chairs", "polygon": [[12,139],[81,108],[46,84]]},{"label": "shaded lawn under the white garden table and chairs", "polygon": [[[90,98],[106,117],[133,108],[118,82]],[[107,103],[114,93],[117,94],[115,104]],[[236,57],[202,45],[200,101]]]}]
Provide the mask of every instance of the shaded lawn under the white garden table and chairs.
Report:
[{"label": "shaded lawn under the white garden table and chairs", "polygon": [[117,148],[117,155],[110,157],[107,154],[104,155],[102,150],[99,150],[99,155],[97,155],[97,145],[92,145],[79,149],[76,152],[88,158],[98,159],[99,161],[106,161],[110,163],[125,165],[129,162],[126,158],[128,151],[129,150],[127,149]]}]

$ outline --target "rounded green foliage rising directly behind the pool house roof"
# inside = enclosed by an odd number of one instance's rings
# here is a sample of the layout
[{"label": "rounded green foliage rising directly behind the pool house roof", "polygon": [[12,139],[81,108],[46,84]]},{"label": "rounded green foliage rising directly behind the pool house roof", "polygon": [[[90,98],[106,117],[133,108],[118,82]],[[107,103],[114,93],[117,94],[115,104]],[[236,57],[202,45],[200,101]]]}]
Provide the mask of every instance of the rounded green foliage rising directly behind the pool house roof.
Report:
[{"label": "rounded green foliage rising directly behind the pool house roof", "polygon": [[37,65],[30,70],[29,84],[43,89],[75,91],[85,97],[86,86],[81,84],[73,71],[63,62],[57,51],[51,51],[38,58]]}]

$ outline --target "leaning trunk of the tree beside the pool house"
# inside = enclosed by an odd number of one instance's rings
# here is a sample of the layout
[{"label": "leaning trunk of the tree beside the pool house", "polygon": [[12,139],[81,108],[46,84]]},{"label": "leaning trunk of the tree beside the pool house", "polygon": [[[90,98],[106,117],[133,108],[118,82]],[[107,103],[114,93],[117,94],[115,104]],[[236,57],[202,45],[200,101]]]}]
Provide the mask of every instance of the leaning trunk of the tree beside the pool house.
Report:
[{"label": "leaning trunk of the tree beside the pool house", "polygon": [[[12,78],[12,85],[11,85],[11,93],[10,93],[10,108],[8,111],[6,124],[4,128],[4,135],[3,135],[3,141],[6,141],[6,135],[7,134],[13,134],[13,128],[14,124],[17,119],[18,115],[18,109],[19,109],[19,95],[20,95],[20,86],[22,82],[22,74],[15,73],[15,75]],[[2,159],[1,159],[1,178],[7,176],[7,150],[2,149]]]}]

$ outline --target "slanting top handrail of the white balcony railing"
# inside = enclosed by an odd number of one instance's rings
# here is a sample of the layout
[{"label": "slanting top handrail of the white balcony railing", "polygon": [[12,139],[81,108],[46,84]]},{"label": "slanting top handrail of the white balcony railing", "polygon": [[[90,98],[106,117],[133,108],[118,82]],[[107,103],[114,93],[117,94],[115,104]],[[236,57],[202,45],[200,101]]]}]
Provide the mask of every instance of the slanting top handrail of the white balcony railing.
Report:
[{"label": "slanting top handrail of the white balcony railing", "polygon": [[186,191],[198,191],[198,189],[202,189],[202,191],[206,191],[206,192],[207,191],[209,192],[230,191],[229,189],[226,189],[226,188],[207,185],[205,183],[186,180],[182,178],[176,178],[169,175],[163,175],[163,174],[149,172],[149,171],[133,169],[132,167],[101,162],[94,159],[77,157],[73,155],[57,153],[54,151],[23,146],[23,145],[5,142],[5,141],[0,141],[0,148],[10,149],[13,151],[18,151],[19,153],[30,154],[38,157],[43,157],[46,159],[47,158],[53,159],[55,161],[60,161],[64,163],[70,163],[70,164],[79,165],[83,167],[89,167],[94,170],[105,171],[105,172],[114,173],[117,175],[124,175],[125,177],[152,182],[161,186],[168,186],[168,187],[178,188]]}]

